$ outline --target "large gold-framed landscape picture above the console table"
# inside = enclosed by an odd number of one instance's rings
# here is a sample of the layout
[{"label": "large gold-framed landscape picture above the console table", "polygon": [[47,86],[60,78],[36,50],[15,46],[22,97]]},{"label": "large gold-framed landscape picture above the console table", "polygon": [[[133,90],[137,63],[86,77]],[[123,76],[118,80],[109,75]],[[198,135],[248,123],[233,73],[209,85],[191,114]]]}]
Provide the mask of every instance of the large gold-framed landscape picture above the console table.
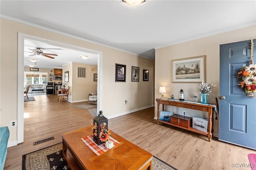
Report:
[{"label": "large gold-framed landscape picture above the console table", "polygon": [[204,77],[205,55],[172,60],[172,83],[200,83]]}]

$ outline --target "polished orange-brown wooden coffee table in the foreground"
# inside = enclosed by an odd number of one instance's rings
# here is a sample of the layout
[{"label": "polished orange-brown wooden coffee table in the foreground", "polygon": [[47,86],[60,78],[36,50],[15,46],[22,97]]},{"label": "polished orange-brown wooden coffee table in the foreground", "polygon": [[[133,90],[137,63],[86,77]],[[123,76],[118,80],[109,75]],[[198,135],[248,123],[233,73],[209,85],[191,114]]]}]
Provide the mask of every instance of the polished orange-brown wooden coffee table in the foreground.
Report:
[{"label": "polished orange-brown wooden coffee table in the foreground", "polygon": [[152,170],[153,155],[111,132],[120,144],[96,155],[82,140],[92,134],[92,127],[81,128],[62,135],[63,158],[72,170]]}]

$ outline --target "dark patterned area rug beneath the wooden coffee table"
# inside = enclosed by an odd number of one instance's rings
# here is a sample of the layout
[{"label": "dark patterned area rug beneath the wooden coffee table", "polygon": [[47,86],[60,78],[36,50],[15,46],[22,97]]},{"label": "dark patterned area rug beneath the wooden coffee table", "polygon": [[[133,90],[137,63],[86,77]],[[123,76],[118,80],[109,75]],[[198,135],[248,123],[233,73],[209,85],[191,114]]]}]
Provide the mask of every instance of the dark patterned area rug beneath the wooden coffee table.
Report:
[{"label": "dark patterned area rug beneath the wooden coffee table", "polygon": [[[153,170],[177,170],[153,156]],[[22,170],[69,170],[62,158],[62,143],[22,156]]]}]

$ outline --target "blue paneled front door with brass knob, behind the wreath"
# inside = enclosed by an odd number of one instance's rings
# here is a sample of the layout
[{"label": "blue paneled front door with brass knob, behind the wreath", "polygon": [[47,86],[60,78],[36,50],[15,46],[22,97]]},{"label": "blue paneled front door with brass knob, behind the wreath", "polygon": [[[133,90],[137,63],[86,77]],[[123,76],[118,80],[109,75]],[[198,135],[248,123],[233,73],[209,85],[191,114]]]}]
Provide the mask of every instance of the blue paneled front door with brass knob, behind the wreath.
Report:
[{"label": "blue paneled front door with brass knob, behind the wreath", "polygon": [[256,149],[256,98],[244,93],[236,75],[249,64],[250,40],[220,45],[219,140]]}]

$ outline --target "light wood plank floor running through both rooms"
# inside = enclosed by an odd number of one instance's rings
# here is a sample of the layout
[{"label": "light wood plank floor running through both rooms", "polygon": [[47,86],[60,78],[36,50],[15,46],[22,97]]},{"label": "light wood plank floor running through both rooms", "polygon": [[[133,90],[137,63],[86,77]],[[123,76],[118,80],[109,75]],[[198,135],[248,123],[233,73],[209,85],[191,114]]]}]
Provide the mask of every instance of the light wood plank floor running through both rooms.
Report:
[{"label": "light wood plank floor running through both rooms", "polygon": [[[61,135],[93,122],[88,110],[72,107],[81,103],[58,104],[56,95],[34,96],[25,102],[24,143],[8,148],[4,170],[21,170],[22,155],[62,142]],[[82,102],[83,104],[86,102]],[[104,111],[103,111],[104,114]],[[248,154],[256,150],[228,144],[213,138],[171,127],[157,125],[154,107],[109,119],[109,129],[152,153],[179,170],[251,170]],[[54,140],[33,142],[54,136]],[[232,164],[243,167],[232,168]],[[244,164],[244,165],[243,165]]]}]

